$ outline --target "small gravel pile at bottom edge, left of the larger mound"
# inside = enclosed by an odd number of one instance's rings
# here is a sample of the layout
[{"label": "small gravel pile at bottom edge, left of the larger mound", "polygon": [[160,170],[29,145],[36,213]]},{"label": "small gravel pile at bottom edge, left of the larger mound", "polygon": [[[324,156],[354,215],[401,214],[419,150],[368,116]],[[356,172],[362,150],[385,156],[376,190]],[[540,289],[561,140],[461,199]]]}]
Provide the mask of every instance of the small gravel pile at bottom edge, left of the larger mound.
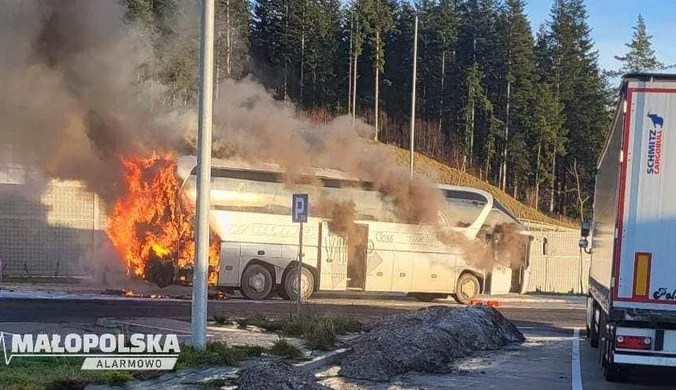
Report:
[{"label": "small gravel pile at bottom edge, left of the larger mound", "polygon": [[279,360],[258,361],[242,370],[240,390],[325,390],[315,377]]}]

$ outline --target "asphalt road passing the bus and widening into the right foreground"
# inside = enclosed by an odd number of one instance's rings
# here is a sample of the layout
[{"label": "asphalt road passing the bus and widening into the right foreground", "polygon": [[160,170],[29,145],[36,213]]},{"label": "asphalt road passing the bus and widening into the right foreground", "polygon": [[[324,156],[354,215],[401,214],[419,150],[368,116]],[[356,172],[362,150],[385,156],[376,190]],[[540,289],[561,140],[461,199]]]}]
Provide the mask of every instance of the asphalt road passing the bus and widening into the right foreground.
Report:
[{"label": "asphalt road passing the bus and widening into the right foreground", "polygon": [[[417,310],[430,305],[454,305],[448,301],[422,303],[411,299],[335,299],[315,298],[306,310],[343,314],[368,321],[390,313]],[[269,316],[295,312],[295,306],[279,299],[247,301],[231,299],[210,301],[209,316],[244,316],[263,313]],[[503,303],[499,310],[528,337],[523,345],[503,351],[489,351],[462,363],[450,375],[410,373],[383,389],[676,389],[674,371],[636,371],[627,383],[605,382],[596,363],[596,349],[584,335],[574,337],[574,328],[584,329],[585,309],[581,304],[547,301]],[[190,302],[139,298],[0,298],[2,322],[93,324],[101,317],[155,317],[188,320]],[[577,340],[577,342],[576,342]],[[382,384],[331,383],[333,388],[380,389]],[[356,386],[355,386],[356,385]]]}]

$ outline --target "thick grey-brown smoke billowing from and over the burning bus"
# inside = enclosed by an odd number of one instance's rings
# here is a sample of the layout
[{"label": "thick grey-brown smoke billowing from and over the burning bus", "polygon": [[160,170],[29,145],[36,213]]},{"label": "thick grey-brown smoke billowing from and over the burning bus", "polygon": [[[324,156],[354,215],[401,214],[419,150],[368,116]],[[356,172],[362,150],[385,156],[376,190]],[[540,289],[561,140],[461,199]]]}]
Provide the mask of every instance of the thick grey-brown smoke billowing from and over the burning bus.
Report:
[{"label": "thick grey-brown smoke billowing from and over the burning bus", "polygon": [[[148,65],[161,59],[146,31],[124,14],[112,0],[0,2],[0,143],[48,177],[86,183],[108,204],[123,195],[120,157],[194,151],[197,123],[194,109],[168,109],[166,88],[147,81]],[[162,50],[196,44],[194,9],[176,14],[179,41]],[[372,182],[397,219],[414,224],[436,223],[445,205],[432,183],[411,180],[387,147],[371,140],[371,127],[346,116],[327,125],[298,119],[295,107],[274,100],[253,79],[221,82],[214,125],[216,157],[275,162],[291,185],[309,167],[340,169]],[[351,236],[354,208],[323,207],[333,226]],[[488,258],[474,245],[465,248],[470,257]]]}]

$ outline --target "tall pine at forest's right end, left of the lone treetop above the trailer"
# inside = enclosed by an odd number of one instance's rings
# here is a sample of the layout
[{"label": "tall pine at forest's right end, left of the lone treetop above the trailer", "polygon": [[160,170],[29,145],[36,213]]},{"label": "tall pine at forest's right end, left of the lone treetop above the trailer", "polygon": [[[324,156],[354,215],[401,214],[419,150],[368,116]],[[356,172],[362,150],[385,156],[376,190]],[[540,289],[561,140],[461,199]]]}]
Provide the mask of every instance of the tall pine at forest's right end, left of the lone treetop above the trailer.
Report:
[{"label": "tall pine at forest's right end, left of the lone treetop above the trailer", "polygon": [[565,158],[553,158],[556,180],[550,188],[549,211],[577,213],[577,209],[567,208],[572,183],[566,168],[576,161],[584,172],[584,191],[592,193],[596,160],[609,121],[607,86],[598,67],[598,52],[593,50],[583,0],[556,0],[550,27],[551,36],[545,40],[552,45],[546,50],[551,53],[552,74],[546,81],[553,84],[564,105],[569,142]]}]

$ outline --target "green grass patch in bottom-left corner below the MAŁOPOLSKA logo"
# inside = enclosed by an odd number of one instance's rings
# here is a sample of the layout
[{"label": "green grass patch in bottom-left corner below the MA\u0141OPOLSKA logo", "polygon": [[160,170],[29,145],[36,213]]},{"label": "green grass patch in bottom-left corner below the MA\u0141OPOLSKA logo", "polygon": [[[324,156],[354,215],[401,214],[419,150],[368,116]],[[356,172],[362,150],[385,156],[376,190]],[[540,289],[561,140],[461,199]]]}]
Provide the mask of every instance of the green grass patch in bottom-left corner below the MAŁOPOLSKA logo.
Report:
[{"label": "green grass patch in bottom-left corner below the MA\u0141OPOLSKA logo", "polygon": [[134,379],[129,371],[82,371],[82,358],[16,357],[0,364],[0,389],[73,390],[88,384],[123,385]]}]

